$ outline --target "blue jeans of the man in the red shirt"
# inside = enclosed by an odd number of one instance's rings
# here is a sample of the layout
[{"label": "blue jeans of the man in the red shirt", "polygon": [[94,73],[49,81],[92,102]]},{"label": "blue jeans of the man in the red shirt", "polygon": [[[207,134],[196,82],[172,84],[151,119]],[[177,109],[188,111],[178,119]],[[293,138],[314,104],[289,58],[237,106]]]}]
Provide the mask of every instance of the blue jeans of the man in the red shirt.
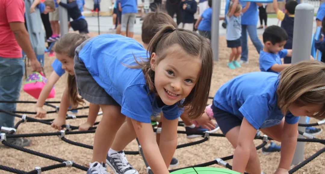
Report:
[{"label": "blue jeans of the man in the red shirt", "polygon": [[[24,75],[22,58],[0,57],[0,100],[15,101],[19,99],[21,80]],[[0,109],[16,110],[16,103],[0,103]],[[0,112],[0,124],[14,127],[14,116]]]}]

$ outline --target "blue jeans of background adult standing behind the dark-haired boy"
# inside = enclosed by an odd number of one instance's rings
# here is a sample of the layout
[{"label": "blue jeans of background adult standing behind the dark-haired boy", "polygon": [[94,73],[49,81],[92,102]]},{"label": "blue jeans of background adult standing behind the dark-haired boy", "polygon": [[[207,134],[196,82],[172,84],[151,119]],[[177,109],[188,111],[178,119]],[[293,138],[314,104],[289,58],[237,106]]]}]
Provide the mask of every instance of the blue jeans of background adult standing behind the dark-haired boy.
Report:
[{"label": "blue jeans of background adult standing behind the dark-haired boy", "polygon": [[251,38],[257,53],[259,54],[263,48],[260,39],[257,36],[256,25],[241,25],[241,57],[240,60],[248,61],[248,46],[247,46],[247,32]]}]

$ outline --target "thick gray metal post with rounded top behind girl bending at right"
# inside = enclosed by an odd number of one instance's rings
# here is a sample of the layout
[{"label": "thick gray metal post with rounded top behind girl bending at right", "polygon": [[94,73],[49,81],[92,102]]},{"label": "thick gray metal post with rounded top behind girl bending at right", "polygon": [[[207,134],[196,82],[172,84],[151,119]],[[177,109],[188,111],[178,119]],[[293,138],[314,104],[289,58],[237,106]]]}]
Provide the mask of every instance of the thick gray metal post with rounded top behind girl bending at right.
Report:
[{"label": "thick gray metal post with rounded top behind girl bending at right", "polygon": [[[302,3],[296,6],[293,25],[292,64],[310,59],[311,36],[313,32],[314,6]],[[299,123],[306,123],[306,117],[300,117]],[[305,132],[305,127],[298,127]],[[299,135],[298,138],[303,138]],[[292,164],[304,160],[304,142],[297,142]]]}]

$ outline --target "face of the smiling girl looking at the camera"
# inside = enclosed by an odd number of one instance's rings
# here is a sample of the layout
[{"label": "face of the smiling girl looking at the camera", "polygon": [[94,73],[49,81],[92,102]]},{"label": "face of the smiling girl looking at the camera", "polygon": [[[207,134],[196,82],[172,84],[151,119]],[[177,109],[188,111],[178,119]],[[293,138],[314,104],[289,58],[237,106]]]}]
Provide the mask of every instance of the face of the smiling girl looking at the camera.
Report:
[{"label": "face of the smiling girl looking at the camera", "polygon": [[166,105],[173,105],[188,96],[199,79],[201,62],[175,44],[166,50],[166,57],[157,63],[156,53],[151,54],[150,65],[155,72],[155,88]]}]

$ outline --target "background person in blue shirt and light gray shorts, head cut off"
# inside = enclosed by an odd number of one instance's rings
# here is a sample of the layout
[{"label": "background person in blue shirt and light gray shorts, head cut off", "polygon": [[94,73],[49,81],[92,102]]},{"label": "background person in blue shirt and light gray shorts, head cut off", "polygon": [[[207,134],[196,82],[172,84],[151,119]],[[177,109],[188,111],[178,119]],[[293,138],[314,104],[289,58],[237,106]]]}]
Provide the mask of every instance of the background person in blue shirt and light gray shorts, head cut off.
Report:
[{"label": "background person in blue shirt and light gray shorts, head cut off", "polygon": [[[136,22],[137,1],[121,0],[122,20],[121,35],[133,38],[134,23]],[[128,29],[126,33],[126,28]]]}]

